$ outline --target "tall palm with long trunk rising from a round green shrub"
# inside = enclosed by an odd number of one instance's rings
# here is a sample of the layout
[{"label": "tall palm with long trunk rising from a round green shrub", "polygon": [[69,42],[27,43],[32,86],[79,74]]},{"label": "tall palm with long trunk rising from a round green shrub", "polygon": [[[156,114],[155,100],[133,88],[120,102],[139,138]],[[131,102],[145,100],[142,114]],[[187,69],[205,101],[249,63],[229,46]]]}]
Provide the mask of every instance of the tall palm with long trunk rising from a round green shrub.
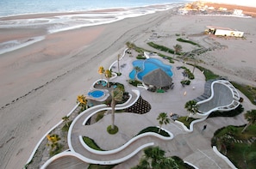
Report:
[{"label": "tall palm with long trunk rising from a round green shrub", "polygon": [[115,88],[111,91],[111,117],[112,117],[112,124],[111,124],[111,130],[115,129],[115,108],[116,108],[116,102],[122,101],[123,91],[121,88]]}]

